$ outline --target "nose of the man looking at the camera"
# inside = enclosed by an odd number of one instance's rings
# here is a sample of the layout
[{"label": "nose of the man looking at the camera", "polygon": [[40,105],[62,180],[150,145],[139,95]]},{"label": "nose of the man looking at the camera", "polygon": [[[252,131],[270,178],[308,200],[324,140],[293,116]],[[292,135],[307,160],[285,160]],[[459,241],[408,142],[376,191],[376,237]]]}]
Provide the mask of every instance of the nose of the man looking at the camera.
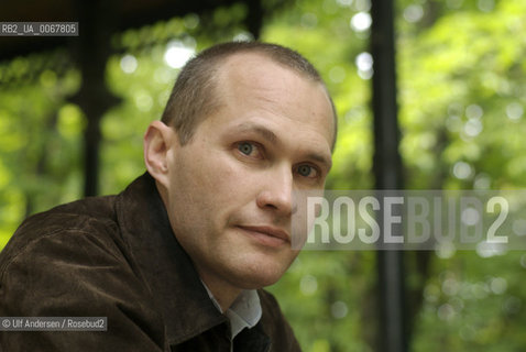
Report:
[{"label": "nose of the man looking at the camera", "polygon": [[291,216],[295,210],[293,204],[294,175],[292,167],[281,165],[269,170],[264,176],[261,191],[257,194],[256,204],[262,209],[273,210],[281,216]]}]

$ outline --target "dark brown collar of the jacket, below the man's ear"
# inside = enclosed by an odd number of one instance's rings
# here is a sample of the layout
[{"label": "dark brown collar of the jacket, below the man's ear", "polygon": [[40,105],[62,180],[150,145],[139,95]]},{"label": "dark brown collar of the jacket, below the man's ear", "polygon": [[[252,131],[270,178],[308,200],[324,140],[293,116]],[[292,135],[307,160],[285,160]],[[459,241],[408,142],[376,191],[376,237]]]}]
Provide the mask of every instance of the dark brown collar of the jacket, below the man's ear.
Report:
[{"label": "dark brown collar of the jacket, below the man's ear", "polygon": [[163,315],[169,344],[227,322],[210,300],[169,226],[154,178],[145,173],[118,196],[118,222],[133,261]]}]

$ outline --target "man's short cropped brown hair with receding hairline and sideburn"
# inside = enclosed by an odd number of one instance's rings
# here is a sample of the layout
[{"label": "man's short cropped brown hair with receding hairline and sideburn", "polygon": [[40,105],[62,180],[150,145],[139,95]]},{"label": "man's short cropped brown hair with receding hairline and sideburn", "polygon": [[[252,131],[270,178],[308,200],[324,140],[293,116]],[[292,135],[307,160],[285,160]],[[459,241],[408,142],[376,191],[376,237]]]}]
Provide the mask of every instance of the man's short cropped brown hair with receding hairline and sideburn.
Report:
[{"label": "man's short cropped brown hair with receding hairline and sideburn", "polygon": [[337,133],[337,114],[332,99],[318,70],[299,53],[270,43],[261,42],[229,42],[211,46],[186,63],[175,81],[168,102],[164,109],[161,121],[175,128],[179,143],[188,143],[197,127],[206,117],[220,105],[216,86],[220,64],[226,58],[239,53],[262,54],[277,64],[289,68],[303,77],[319,82],[324,86],[329,97],[333,120],[335,141]]}]

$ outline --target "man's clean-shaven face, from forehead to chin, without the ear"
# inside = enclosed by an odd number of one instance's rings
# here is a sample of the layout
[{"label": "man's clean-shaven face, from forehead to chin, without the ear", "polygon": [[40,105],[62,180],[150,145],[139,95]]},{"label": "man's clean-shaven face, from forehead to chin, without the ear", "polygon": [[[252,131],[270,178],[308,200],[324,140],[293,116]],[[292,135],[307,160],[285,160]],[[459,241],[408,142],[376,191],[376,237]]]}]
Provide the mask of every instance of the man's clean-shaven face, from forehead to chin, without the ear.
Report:
[{"label": "man's clean-shaven face, from forehead to chin, without the ear", "polygon": [[325,185],[332,109],[320,84],[257,54],[228,58],[216,92],[220,107],[168,151],[165,202],[205,282],[259,288],[298,254],[292,193]]}]

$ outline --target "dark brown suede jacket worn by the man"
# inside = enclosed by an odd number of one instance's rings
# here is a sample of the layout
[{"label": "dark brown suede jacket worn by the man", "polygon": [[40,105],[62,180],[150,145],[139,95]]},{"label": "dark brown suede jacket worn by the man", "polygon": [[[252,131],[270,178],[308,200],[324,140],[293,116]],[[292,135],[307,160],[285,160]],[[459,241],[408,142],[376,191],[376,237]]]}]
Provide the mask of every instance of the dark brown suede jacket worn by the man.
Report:
[{"label": "dark brown suede jacket worn by the man", "polygon": [[300,351],[274,297],[233,342],[146,173],[25,220],[0,253],[0,317],[108,317],[108,331],[0,331],[0,351]]}]

